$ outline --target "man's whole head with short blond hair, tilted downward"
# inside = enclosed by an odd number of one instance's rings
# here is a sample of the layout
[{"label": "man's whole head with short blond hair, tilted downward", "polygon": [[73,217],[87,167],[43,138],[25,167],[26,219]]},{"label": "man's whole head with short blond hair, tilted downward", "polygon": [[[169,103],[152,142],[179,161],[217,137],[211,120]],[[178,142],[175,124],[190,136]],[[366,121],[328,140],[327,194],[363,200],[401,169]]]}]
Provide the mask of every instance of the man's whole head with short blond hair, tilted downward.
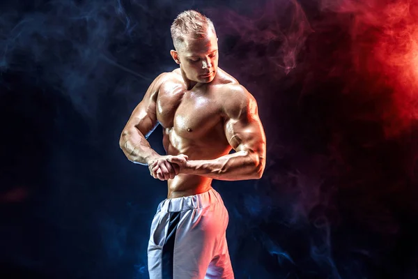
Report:
[{"label": "man's whole head with short blond hair, tilted downward", "polygon": [[171,38],[176,50],[170,54],[187,79],[211,82],[218,64],[217,36],[212,21],[195,10],[186,10],[171,24]]}]

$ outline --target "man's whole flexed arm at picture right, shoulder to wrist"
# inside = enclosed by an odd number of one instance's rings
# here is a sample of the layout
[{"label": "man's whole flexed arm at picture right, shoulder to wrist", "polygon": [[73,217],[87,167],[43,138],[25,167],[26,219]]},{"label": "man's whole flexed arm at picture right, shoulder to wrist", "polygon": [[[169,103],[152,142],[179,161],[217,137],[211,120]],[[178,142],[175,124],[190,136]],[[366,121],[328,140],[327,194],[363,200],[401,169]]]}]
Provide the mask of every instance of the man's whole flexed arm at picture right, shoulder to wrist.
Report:
[{"label": "man's whole flexed arm at picture right, shoulder to wrist", "polygon": [[256,100],[241,85],[233,85],[229,93],[231,98],[224,102],[224,130],[236,152],[212,160],[188,160],[180,173],[229,181],[260,179],[263,175],[265,133]]}]

